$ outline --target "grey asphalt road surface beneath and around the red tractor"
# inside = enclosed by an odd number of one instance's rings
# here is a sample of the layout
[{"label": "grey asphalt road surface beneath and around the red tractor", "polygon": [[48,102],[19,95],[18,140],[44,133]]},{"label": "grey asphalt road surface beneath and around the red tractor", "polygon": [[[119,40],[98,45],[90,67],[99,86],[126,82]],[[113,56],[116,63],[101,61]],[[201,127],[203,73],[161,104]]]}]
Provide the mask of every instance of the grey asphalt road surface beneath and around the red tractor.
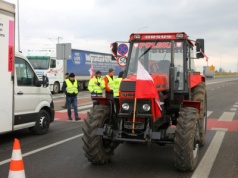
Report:
[{"label": "grey asphalt road surface beneath and around the red tractor", "polygon": [[[173,145],[124,143],[115,150],[111,163],[91,165],[82,149],[83,121],[56,120],[48,134],[36,136],[27,130],[1,135],[0,177],[7,177],[13,139],[19,138],[26,176],[29,178],[78,177],[159,177],[236,178],[238,177],[238,78],[207,81],[208,131],[200,149],[195,172],[179,172],[174,167]],[[79,110],[88,110],[89,93],[80,92]],[[64,102],[54,95],[57,110]],[[82,109],[83,108],[83,109]],[[61,112],[61,111],[59,111]]]}]

